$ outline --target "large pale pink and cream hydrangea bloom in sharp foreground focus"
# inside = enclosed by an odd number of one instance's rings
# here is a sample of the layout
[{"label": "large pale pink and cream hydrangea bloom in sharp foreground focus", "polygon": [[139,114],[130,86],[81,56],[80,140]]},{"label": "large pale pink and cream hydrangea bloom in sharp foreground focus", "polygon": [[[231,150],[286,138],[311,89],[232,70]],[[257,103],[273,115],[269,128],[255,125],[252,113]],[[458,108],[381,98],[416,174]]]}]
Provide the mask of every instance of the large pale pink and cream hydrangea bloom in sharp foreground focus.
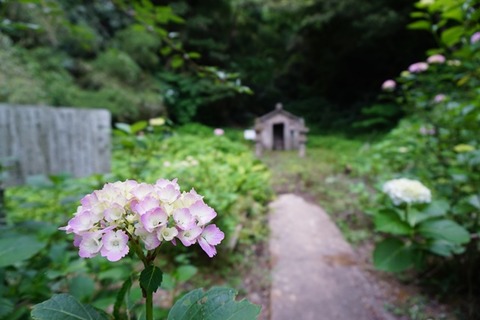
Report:
[{"label": "large pale pink and cream hydrangea bloom in sharp foreground focus", "polygon": [[176,245],[177,240],[187,247],[198,242],[213,257],[225,236],[209,224],[215,210],[194,189],[181,193],[177,179],[107,183],[80,202],[75,216],[60,229],[75,234],[74,245],[82,258],[101,254],[118,261],[128,254],[129,241],[153,250],[163,241]]}]

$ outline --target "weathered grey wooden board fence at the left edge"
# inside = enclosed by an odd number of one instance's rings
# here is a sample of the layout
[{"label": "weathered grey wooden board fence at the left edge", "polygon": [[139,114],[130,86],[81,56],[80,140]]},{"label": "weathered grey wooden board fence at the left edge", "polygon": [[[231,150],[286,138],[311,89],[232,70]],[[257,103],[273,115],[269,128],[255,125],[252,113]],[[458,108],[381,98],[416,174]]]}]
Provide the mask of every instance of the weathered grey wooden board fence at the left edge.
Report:
[{"label": "weathered grey wooden board fence at the left edge", "polygon": [[38,174],[84,177],[110,171],[111,116],[101,109],[0,104],[0,161],[6,185]]}]

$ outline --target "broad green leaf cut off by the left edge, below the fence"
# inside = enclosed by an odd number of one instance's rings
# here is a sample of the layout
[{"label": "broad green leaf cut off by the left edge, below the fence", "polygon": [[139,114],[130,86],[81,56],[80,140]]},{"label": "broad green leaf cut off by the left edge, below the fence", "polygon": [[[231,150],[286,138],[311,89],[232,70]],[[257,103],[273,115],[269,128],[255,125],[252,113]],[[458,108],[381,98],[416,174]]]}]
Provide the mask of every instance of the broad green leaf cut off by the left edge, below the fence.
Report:
[{"label": "broad green leaf cut off by the left edge, below the fence", "polygon": [[0,239],[0,268],[27,260],[45,246],[33,236],[18,236]]}]

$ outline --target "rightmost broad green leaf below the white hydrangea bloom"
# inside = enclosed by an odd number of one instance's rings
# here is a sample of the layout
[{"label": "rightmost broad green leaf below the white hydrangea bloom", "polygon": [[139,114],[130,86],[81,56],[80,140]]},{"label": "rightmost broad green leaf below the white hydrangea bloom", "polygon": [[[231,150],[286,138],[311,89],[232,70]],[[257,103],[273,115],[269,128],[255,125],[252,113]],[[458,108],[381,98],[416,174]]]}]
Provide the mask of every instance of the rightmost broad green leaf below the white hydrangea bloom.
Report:
[{"label": "rightmost broad green leaf below the white hydrangea bloom", "polygon": [[420,224],[418,232],[427,238],[443,239],[454,244],[470,241],[470,234],[465,228],[452,220],[427,220]]}]

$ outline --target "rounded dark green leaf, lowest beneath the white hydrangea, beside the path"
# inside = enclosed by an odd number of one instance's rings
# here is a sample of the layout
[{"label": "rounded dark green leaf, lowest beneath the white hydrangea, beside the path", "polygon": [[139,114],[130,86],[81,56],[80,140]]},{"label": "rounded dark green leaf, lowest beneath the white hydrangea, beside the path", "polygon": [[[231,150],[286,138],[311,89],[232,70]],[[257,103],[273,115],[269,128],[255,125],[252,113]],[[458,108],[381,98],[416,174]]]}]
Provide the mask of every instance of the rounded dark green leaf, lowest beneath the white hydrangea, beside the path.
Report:
[{"label": "rounded dark green leaf, lowest beneath the white hydrangea, beside the path", "polygon": [[375,246],[373,264],[377,269],[388,272],[400,272],[412,267],[416,252],[398,239],[385,239]]}]

